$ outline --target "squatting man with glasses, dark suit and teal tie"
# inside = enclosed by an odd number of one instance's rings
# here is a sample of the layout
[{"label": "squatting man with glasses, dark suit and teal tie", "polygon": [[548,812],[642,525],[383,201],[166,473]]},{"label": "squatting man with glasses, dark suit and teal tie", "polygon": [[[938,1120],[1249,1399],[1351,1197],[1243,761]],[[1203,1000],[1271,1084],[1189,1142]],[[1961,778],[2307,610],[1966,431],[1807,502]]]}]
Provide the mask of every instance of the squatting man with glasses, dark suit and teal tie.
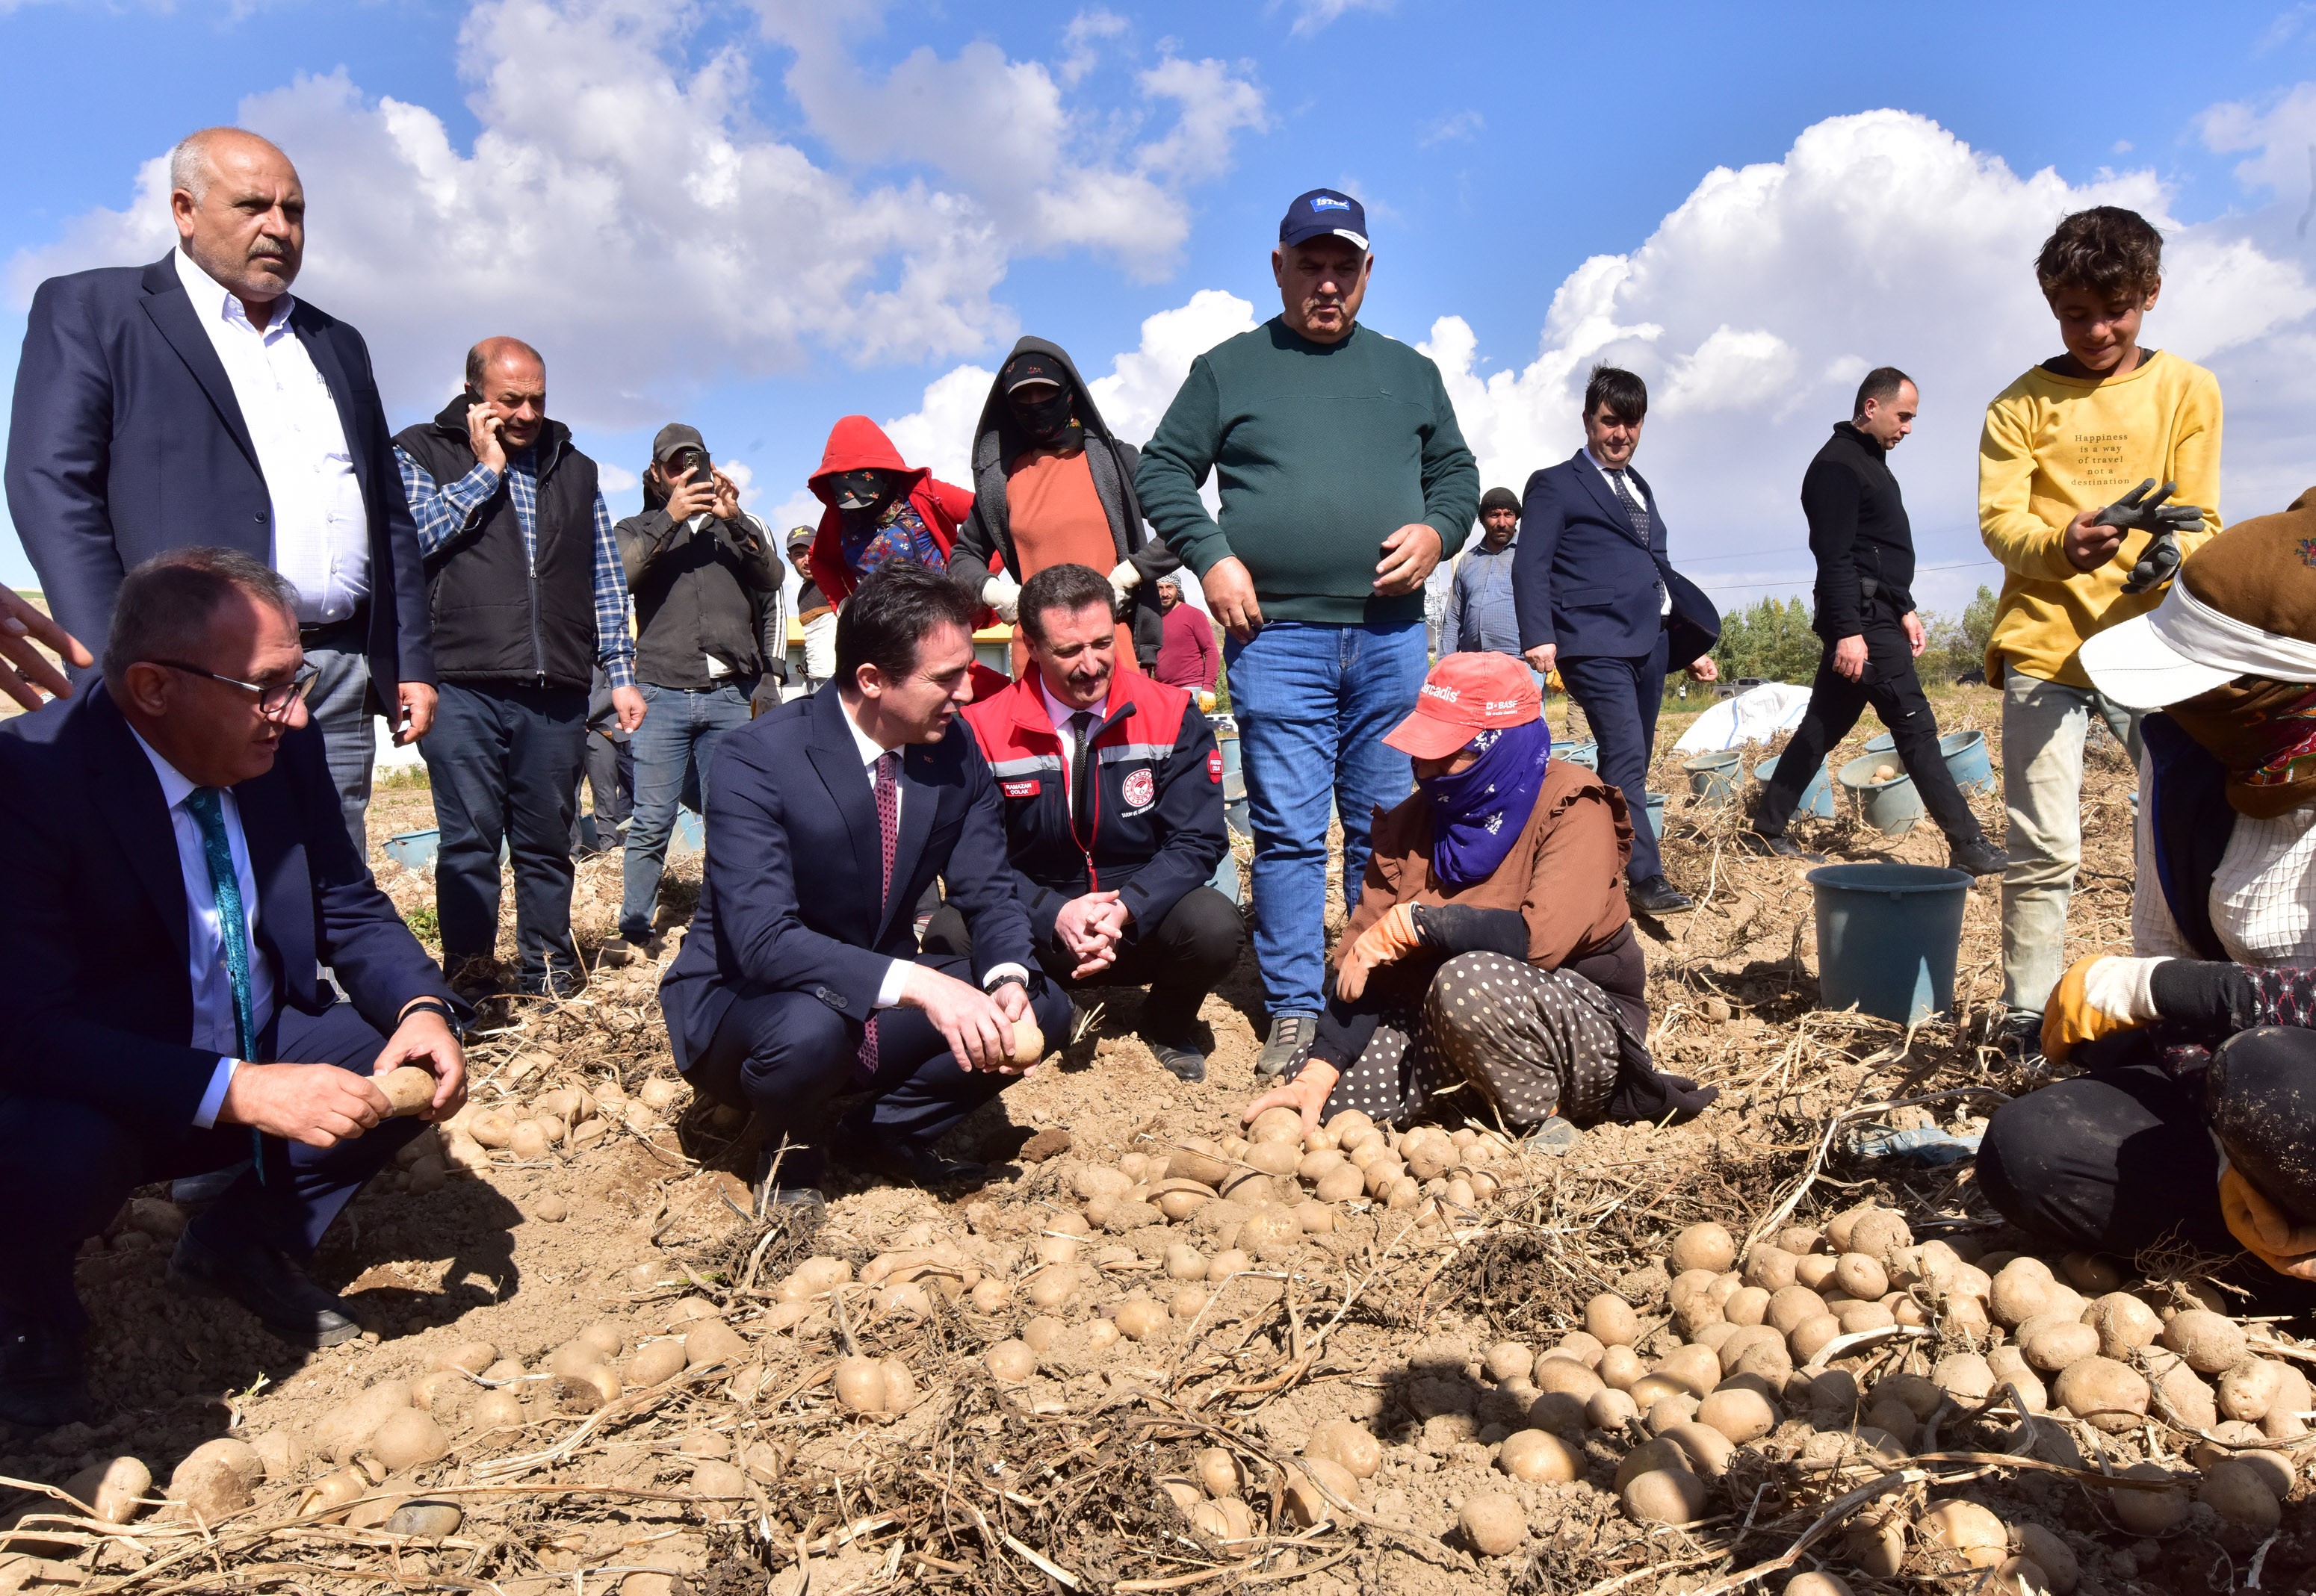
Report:
[{"label": "squatting man with glasses, dark suit and teal tie", "polygon": [[419,1130],[368,1077],[431,1070],[426,1119],[466,1096],[442,971],[340,825],[292,605],[245,554],[164,554],[120,584],[104,681],[0,730],[12,1425],[86,1415],[72,1258],[146,1181],[248,1163],[185,1228],[169,1281],[287,1341],[361,1334],[299,1262]]}]

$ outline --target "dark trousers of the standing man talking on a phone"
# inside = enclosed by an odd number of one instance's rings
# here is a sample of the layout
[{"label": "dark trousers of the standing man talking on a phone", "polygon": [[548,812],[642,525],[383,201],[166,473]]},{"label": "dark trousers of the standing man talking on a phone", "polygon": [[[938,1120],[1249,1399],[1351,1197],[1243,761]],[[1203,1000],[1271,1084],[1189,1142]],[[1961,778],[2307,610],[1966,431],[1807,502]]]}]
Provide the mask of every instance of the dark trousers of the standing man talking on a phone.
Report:
[{"label": "dark trousers of the standing man talking on a phone", "polygon": [[514,864],[514,947],[521,978],[579,968],[572,950],[572,820],[586,755],[584,688],[442,683],[433,732],[419,741],[442,845],[435,910],[442,968],[498,947],[498,848]]}]

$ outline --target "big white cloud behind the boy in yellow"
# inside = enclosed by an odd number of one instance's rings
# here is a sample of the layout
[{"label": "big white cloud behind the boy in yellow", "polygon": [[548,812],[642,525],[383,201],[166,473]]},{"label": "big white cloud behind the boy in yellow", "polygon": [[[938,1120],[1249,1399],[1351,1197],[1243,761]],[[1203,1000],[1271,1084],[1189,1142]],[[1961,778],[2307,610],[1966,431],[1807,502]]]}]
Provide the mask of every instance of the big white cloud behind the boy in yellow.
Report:
[{"label": "big white cloud behind the boy in yellow", "polygon": [[[2277,496],[2274,470],[2297,491],[2304,452],[2286,454],[2281,440],[2244,447],[2284,394],[2240,378],[2295,359],[2309,371],[2316,290],[2291,255],[2170,222],[2152,174],[2087,185],[2054,171],[2020,176],[1901,111],[1830,118],[1779,162],[1707,174],[1640,248],[1598,255],[1561,283],[1519,371],[1482,375],[1471,327],[1454,315],[1434,322],[1422,347],[1448,378],[1485,482],[1515,491],[1582,442],[1577,410],[1596,361],[1647,378],[1656,403],[1637,463],[1661,493],[1672,558],[1723,584],[1730,602],[1806,591],[1802,470],[1848,415],[1857,378],[1904,366],[1922,387],[1922,422],[1892,466],[1922,563],[1973,561],[1985,554],[1976,512],[1985,403],[2059,347],[2029,262],[2052,222],[2087,204],[2133,206],[2165,229],[2168,280],[2149,343],[2221,375],[2223,512],[2281,507],[2288,493]],[[2316,378],[2291,391],[2309,387]],[[2291,426],[2300,431],[2297,419]],[[1756,551],[1776,554],[1742,568],[1732,558]],[[1959,607],[1978,581],[1999,581],[1999,570],[1936,572],[1922,598]]]}]

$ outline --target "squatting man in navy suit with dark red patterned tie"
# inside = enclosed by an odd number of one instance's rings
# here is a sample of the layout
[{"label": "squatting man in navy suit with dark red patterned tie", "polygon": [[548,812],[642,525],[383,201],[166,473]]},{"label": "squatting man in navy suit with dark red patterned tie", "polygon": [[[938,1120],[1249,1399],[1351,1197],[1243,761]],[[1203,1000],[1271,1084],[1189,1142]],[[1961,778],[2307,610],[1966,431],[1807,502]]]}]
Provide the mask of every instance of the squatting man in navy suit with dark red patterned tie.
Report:
[{"label": "squatting man in navy suit with dark red patterned tie", "polygon": [[[885,561],[836,618],[834,690],[716,751],[699,913],[660,1008],[686,1079],[755,1110],[771,1200],[820,1200],[815,1119],[845,1091],[868,1100],[827,1137],[836,1163],[919,1184],[975,1174],[931,1144],[1021,1077],[1017,1024],[1068,1042],[1070,1001],[1038,973],[1012,892],[996,781],[957,713],[973,614],[943,574]],[[936,876],[970,957],[917,947]]]}]

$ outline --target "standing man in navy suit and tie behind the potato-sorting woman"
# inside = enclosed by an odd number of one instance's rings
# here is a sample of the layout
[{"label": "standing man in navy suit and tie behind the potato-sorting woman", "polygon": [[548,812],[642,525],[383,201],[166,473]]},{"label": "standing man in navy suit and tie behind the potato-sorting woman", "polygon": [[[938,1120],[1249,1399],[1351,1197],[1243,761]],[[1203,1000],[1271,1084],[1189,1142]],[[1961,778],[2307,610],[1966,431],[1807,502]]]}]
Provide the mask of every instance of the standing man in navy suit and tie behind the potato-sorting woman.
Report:
[{"label": "standing man in navy suit and tie behind the potato-sorting woman", "polygon": [[1529,477],[1512,556],[1519,646],[1540,672],[1559,669],[1600,741],[1600,776],[1633,806],[1633,908],[1693,908],[1665,880],[1649,825],[1649,760],[1665,672],[1714,681],[1721,616],[1665,561],[1665,519],[1633,470],[1649,387],[1630,371],[1593,366],[1584,385],[1584,447]]}]

